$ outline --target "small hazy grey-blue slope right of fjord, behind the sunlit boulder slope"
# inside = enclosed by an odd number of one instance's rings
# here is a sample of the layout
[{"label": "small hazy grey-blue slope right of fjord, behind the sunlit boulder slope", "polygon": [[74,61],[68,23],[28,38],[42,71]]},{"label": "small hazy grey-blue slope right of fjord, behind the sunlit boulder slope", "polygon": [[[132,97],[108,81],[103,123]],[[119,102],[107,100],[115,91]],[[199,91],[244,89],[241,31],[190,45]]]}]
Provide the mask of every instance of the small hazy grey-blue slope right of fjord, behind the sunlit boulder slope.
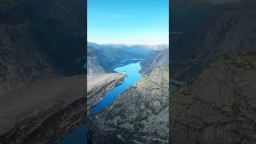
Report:
[{"label": "small hazy grey-blue slope right of fjord, behind the sunlit boulder slope", "polygon": [[169,65],[169,49],[158,51],[151,54],[148,58],[141,62],[141,74],[150,74],[153,70]]}]

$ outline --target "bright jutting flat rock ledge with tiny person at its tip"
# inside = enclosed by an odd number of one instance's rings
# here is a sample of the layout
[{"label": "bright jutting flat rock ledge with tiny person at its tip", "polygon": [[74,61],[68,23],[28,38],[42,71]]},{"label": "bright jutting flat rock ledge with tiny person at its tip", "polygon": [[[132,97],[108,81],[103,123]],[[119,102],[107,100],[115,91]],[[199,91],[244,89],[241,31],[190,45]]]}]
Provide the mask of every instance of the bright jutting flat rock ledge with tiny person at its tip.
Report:
[{"label": "bright jutting flat rock ledge with tiny person at its tip", "polygon": [[102,74],[95,78],[87,79],[87,110],[95,106],[100,98],[123,82],[123,74]]}]

